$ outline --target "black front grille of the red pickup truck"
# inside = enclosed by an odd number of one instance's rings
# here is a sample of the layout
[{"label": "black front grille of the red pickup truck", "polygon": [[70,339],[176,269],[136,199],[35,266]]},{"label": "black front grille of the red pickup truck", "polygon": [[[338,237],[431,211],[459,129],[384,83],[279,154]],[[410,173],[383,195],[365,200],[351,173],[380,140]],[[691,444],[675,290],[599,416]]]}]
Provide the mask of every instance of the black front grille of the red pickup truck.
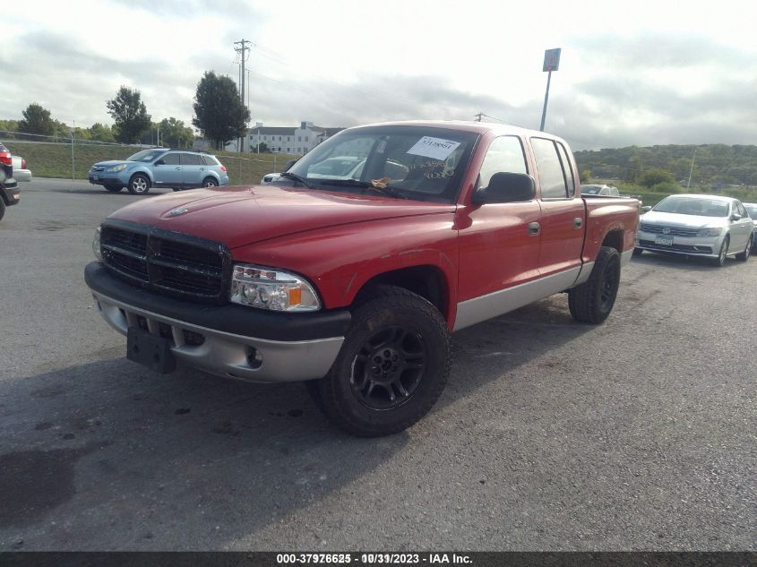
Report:
[{"label": "black front grille of the red pickup truck", "polygon": [[225,245],[159,228],[108,220],[103,262],[122,279],[168,295],[228,301],[231,255]]}]

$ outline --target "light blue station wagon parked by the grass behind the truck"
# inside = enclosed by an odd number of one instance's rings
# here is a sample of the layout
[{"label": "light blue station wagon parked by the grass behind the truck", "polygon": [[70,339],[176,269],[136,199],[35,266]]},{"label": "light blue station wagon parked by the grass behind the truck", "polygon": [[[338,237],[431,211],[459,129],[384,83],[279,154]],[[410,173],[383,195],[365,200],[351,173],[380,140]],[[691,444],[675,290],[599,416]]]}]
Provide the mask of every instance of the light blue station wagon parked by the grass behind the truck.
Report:
[{"label": "light blue station wagon parked by the grass behind the truck", "polygon": [[197,151],[155,148],[125,160],[100,161],[90,169],[90,183],[117,193],[124,187],[141,195],[151,187],[174,191],[228,185],[226,168],[215,156]]}]

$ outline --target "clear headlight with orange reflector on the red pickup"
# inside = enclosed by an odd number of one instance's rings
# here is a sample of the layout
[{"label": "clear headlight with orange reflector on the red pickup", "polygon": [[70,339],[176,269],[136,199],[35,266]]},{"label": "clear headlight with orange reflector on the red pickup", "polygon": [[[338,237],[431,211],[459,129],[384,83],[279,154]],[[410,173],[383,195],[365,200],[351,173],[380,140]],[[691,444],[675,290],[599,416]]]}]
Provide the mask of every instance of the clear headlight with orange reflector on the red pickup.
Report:
[{"label": "clear headlight with orange reflector on the red pickup", "polygon": [[321,308],[318,295],[305,279],[253,264],[234,264],[231,302],[271,311],[317,311]]}]

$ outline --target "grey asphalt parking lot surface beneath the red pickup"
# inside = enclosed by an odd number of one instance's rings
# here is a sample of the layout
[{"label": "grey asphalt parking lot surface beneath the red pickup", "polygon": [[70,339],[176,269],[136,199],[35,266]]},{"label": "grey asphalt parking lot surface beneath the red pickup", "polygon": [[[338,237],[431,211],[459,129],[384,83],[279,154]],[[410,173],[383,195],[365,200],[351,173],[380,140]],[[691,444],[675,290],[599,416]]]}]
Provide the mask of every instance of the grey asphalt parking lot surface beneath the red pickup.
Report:
[{"label": "grey asphalt parking lot surface beneath the red pickup", "polygon": [[300,384],[125,360],[83,269],[167,192],[37,180],[0,222],[0,550],[757,548],[757,258],[645,253],[604,325],[461,331],[434,410],[356,439]]}]

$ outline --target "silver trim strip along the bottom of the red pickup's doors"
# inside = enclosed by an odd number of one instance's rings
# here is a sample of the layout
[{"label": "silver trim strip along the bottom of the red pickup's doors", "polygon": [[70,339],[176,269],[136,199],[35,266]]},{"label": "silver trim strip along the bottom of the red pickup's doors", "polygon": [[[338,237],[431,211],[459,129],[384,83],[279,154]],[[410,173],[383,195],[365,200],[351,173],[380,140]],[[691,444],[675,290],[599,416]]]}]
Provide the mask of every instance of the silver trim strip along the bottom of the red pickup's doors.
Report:
[{"label": "silver trim strip along the bottom of the red pickup's doors", "polygon": [[[590,270],[587,273],[589,272]],[[460,329],[475,325],[477,322],[509,313],[538,299],[572,288],[576,285],[576,278],[579,277],[580,273],[581,267],[572,268],[546,276],[546,278],[535,279],[519,286],[495,291],[486,296],[462,301],[458,304],[453,331],[460,331]]]}]

